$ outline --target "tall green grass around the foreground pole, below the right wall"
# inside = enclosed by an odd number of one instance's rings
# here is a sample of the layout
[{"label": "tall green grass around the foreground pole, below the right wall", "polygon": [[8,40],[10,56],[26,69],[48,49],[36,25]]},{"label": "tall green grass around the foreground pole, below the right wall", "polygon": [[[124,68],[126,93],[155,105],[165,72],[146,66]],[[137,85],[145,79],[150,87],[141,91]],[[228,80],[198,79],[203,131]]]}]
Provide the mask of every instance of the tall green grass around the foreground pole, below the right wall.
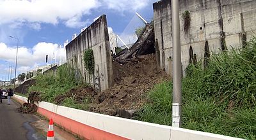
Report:
[{"label": "tall green grass around the foreground pole, below the right wall", "polygon": [[[256,38],[240,50],[189,65],[182,79],[182,127],[256,139]],[[172,82],[156,85],[135,119],[172,125]]]}]

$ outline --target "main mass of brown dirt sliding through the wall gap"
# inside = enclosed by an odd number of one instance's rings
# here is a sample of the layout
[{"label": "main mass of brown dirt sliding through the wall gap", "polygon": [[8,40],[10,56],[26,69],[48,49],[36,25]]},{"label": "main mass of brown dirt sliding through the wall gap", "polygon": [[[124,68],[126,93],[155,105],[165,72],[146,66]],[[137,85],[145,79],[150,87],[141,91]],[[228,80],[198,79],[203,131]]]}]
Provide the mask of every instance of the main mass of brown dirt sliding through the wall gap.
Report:
[{"label": "main mass of brown dirt sliding through the wall gap", "polygon": [[157,72],[154,54],[129,60],[124,65],[115,61],[112,64],[115,84],[93,97],[91,111],[116,115],[121,109],[140,109],[146,101],[145,93],[168,78],[163,71]]}]

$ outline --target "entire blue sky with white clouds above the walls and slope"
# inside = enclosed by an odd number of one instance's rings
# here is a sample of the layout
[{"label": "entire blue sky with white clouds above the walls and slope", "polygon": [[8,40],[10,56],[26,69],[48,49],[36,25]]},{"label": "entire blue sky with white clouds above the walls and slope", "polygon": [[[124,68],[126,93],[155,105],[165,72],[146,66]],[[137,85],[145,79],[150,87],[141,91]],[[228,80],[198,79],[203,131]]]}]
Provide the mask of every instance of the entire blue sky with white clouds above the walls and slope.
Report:
[{"label": "entire blue sky with white clouds above the walls and slope", "polygon": [[[127,36],[143,25],[135,12],[148,22],[157,0],[0,0],[0,80],[14,78],[19,39],[17,75],[47,65],[45,55],[56,62],[65,58],[63,43],[93,19],[106,15],[108,27],[125,43]],[[10,38],[13,36],[14,38]],[[50,63],[55,60],[49,58]],[[10,79],[10,76],[9,76]]]}]

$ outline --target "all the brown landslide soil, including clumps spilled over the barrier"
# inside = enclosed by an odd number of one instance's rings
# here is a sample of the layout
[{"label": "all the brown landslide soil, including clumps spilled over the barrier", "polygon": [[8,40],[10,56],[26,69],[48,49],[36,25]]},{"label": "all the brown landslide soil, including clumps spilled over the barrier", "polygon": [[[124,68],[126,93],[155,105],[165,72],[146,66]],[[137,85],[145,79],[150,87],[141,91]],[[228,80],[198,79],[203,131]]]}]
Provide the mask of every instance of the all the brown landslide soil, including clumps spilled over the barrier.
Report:
[{"label": "all the brown landslide soil, including clumps spilled over the barrier", "polygon": [[[107,90],[95,92],[92,87],[73,88],[63,95],[56,96],[54,103],[62,104],[65,99],[72,98],[74,102],[83,104],[84,99],[89,99],[89,111],[122,116],[140,109],[147,101],[148,90],[170,77],[163,71],[157,71],[154,54],[125,59],[123,64],[113,60],[113,75],[114,85]],[[20,108],[24,113],[34,110],[33,102],[40,101],[40,93],[31,92],[28,99],[32,105],[24,104],[23,108]]]}]

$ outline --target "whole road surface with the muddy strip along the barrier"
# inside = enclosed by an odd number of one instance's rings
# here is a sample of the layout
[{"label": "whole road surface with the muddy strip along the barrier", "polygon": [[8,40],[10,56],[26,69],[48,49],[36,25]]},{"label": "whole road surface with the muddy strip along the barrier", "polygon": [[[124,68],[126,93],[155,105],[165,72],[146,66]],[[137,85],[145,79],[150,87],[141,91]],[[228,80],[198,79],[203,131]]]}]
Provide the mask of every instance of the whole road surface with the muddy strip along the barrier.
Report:
[{"label": "whole road surface with the muddy strip along the barrier", "polygon": [[[20,104],[13,100],[11,105],[7,105],[7,99],[0,103],[0,140],[45,140],[49,122],[36,115],[19,113],[19,107]],[[54,136],[55,139],[77,139],[56,126]]]}]

